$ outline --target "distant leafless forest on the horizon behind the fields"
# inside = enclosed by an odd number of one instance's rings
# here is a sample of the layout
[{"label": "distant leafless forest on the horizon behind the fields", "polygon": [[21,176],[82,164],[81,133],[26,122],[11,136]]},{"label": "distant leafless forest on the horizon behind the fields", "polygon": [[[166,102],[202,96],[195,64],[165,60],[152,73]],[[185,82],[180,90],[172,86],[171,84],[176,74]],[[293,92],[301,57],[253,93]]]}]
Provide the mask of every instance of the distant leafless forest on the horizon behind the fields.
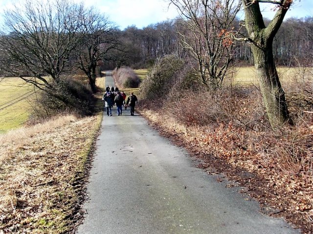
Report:
[{"label": "distant leafless forest on the horizon behind the fields", "polygon": [[[240,23],[237,21],[235,25],[239,28]],[[265,23],[269,23],[269,20],[265,20]],[[143,68],[151,66],[156,58],[167,54],[184,57],[186,51],[179,43],[177,27],[179,20],[158,22],[142,29],[132,25],[119,31],[124,51],[119,54],[118,64],[106,63],[102,68],[112,69],[121,65]],[[241,32],[243,35],[246,34],[244,30],[243,28]],[[235,65],[253,65],[253,56],[247,42],[236,43],[233,53]],[[311,65],[313,17],[285,20],[274,39],[273,53],[277,65]]]}]

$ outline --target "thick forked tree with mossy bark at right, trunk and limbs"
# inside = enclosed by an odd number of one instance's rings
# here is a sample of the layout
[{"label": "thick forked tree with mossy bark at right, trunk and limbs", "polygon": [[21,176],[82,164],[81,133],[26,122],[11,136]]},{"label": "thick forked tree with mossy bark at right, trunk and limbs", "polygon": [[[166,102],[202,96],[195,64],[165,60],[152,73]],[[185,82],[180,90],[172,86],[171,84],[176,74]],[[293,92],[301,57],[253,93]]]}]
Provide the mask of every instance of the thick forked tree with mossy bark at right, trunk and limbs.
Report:
[{"label": "thick forked tree with mossy bark at right, trunk and limbs", "polygon": [[[265,26],[259,2],[274,4],[276,14]],[[273,58],[272,43],[293,0],[242,0],[248,41],[272,128],[292,123]]]}]

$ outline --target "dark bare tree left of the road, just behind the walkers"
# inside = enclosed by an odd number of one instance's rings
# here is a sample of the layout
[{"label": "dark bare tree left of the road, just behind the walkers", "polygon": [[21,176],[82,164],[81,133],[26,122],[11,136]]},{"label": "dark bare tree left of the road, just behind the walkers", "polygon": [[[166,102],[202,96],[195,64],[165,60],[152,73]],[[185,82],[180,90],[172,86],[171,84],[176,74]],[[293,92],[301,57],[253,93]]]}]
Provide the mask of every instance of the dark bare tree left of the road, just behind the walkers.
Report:
[{"label": "dark bare tree left of the road, just behind the walkers", "polygon": [[91,90],[95,93],[97,65],[111,59],[107,56],[110,51],[120,49],[117,27],[94,8],[82,15],[82,24],[86,34],[78,48],[78,67],[88,76]]}]

